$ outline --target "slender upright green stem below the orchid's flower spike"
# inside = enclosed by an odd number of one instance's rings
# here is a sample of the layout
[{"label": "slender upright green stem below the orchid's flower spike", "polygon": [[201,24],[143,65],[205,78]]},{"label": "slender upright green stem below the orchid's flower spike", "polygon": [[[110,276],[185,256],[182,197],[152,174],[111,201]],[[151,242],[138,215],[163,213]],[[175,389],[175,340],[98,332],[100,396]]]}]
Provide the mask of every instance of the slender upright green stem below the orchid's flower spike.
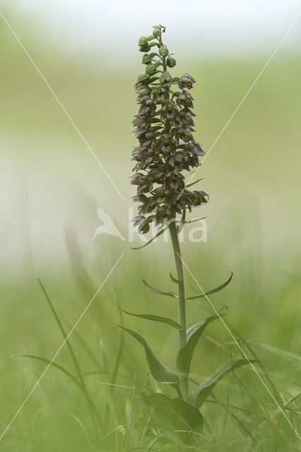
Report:
[{"label": "slender upright green stem below the orchid's flower spike", "polygon": [[[175,220],[172,220],[169,225],[170,237],[172,239],[172,248],[175,254],[175,265],[177,270],[177,293],[178,293],[178,316],[179,324],[182,329],[179,330],[179,349],[186,345],[186,304],[185,304],[185,285],[184,285],[184,273],[181,259],[181,250],[179,248],[179,239],[177,237],[177,228]],[[188,375],[179,369],[181,392],[184,400],[188,400]]]}]

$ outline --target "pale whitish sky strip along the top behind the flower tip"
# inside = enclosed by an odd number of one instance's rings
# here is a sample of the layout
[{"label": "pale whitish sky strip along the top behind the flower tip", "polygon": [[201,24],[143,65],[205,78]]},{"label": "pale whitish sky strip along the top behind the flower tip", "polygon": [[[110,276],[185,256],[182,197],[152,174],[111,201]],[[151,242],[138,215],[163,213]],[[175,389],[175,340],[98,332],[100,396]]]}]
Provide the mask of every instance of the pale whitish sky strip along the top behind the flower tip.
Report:
[{"label": "pale whitish sky strip along the top behind the flower tip", "polygon": [[[276,47],[301,11],[300,0],[0,0],[11,25],[33,22],[33,33],[69,52],[98,51],[107,62],[136,54],[139,35],[167,25],[178,54],[199,57],[247,52],[266,54]],[[34,36],[33,36],[34,37]],[[300,49],[301,20],[285,41]],[[189,47],[188,47],[189,46]],[[110,50],[114,57],[110,57]]]}]

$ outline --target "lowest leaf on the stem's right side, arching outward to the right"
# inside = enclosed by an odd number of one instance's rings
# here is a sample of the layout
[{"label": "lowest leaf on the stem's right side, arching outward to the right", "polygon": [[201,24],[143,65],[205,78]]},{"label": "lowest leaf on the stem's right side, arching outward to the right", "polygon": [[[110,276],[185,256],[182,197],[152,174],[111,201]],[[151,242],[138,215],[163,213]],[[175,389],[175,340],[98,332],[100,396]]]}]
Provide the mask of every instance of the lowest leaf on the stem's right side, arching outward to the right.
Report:
[{"label": "lowest leaf on the stem's right side, arching outward to the right", "polygon": [[[254,359],[249,362],[254,362]],[[211,391],[220,379],[222,379],[231,370],[242,367],[245,364],[249,364],[249,362],[244,361],[242,358],[235,358],[231,361],[225,362],[222,366],[218,367],[218,369],[216,369],[216,371],[209,376],[208,379],[203,381],[203,383],[191,392],[189,397],[190,403],[196,405],[197,408],[201,408],[201,405],[203,405],[206,398],[210,395]]]}]

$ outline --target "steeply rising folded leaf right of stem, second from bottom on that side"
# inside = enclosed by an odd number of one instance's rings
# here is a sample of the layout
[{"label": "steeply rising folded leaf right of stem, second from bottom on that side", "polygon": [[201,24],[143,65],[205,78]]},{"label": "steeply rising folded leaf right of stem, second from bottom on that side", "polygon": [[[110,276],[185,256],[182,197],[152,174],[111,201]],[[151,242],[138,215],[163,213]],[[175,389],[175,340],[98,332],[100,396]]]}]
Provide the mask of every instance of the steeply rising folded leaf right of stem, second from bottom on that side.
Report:
[{"label": "steeply rising folded leaf right of stem, second from bottom on that side", "polygon": [[199,338],[201,338],[203,331],[205,331],[206,326],[216,319],[218,319],[218,315],[214,314],[203,322],[196,323],[187,330],[187,343],[181,348],[181,350],[179,350],[177,355],[178,372],[181,372],[182,374],[189,374],[190,363],[196,344],[198,343]]}]

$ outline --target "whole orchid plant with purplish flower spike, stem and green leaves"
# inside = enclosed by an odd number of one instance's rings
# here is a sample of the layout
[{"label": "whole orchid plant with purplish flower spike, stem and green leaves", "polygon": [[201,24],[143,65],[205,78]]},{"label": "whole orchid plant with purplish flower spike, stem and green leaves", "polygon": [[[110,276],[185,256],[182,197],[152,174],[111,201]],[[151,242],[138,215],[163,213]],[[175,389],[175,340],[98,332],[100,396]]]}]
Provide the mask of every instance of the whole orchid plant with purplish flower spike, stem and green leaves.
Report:
[{"label": "whole orchid plant with purplish flower spike, stem and green leaves", "polygon": [[[156,294],[173,297],[178,303],[178,319],[170,319],[157,314],[126,314],[166,323],[179,333],[177,371],[167,368],[155,357],[146,340],[136,331],[124,328],[143,345],[151,375],[158,383],[165,383],[175,389],[174,394],[153,392],[143,393],[147,405],[155,415],[170,424],[183,441],[196,441],[203,429],[200,408],[210,395],[216,383],[232,369],[246,364],[244,359],[231,359],[219,367],[194,391],[189,388],[189,371],[196,344],[206,327],[220,314],[213,314],[187,328],[186,301],[205,297],[218,292],[230,283],[230,278],[219,287],[199,295],[186,296],[183,263],[178,234],[189,222],[186,218],[191,208],[203,206],[208,194],[203,190],[191,190],[192,184],[185,184],[185,177],[191,169],[200,165],[199,157],[204,155],[201,145],[194,140],[193,101],[190,90],[195,83],[188,73],[172,76],[170,69],[176,65],[175,58],[163,43],[165,27],[156,25],[153,34],[141,37],[138,46],[143,53],[145,71],[138,76],[135,85],[138,114],[134,117],[134,133],[138,145],[133,150],[134,175],[131,184],[137,186],[134,201],[139,203],[134,224],[141,234],[150,230],[155,222],[158,233],[147,242],[169,230],[175,256],[176,277],[170,274],[177,291],[158,290],[146,281],[146,286]],[[223,315],[223,314],[221,314]],[[195,436],[196,435],[196,436]]]}]

